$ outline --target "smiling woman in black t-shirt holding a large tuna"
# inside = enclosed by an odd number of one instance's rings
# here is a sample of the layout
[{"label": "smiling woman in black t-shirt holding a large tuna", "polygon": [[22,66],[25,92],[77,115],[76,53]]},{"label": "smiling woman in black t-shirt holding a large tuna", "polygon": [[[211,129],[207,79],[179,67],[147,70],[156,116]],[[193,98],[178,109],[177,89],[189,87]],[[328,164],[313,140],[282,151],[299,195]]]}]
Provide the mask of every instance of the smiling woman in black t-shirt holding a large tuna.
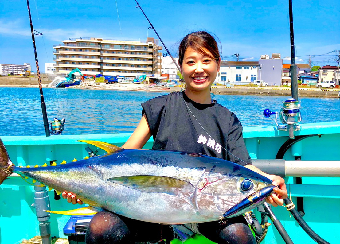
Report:
[{"label": "smiling woman in black t-shirt holding a large tuna", "polygon": [[[233,112],[211,99],[210,89],[220,70],[217,42],[207,32],[185,36],[179,47],[179,65],[186,84],[184,92],[173,92],[142,103],[142,118],[125,149],[138,149],[153,136],[153,149],[177,150],[223,158],[243,165],[273,181],[275,194],[267,198],[273,206],[287,197],[284,179],[268,175],[251,164],[242,137],[242,125]],[[63,193],[69,202],[82,204]],[[187,227],[219,244],[253,244],[255,239],[243,216],[225,223],[207,222]],[[176,227],[174,227],[176,232]],[[178,232],[176,232],[178,233]],[[131,220],[111,212],[96,214],[86,233],[86,243],[159,242],[173,239],[165,225]]]}]

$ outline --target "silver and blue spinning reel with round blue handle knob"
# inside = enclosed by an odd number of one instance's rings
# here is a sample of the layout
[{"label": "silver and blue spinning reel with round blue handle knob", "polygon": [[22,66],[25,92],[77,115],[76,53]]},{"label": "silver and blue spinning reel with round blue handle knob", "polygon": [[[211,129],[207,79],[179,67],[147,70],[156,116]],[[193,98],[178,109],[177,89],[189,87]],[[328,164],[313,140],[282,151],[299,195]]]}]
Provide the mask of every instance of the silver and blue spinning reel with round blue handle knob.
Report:
[{"label": "silver and blue spinning reel with round blue handle knob", "polygon": [[[280,112],[277,113],[270,111],[269,109],[265,109],[263,111],[263,116],[269,118],[271,115],[275,114],[275,124],[278,130],[285,130],[289,132],[289,138],[295,139],[295,131],[300,130],[301,127],[298,125],[301,122],[301,114],[300,114],[300,105],[299,101],[296,101],[293,98],[289,98],[283,102],[283,107],[280,109]],[[286,125],[278,125],[277,123],[277,114],[280,116],[281,123]]]}]

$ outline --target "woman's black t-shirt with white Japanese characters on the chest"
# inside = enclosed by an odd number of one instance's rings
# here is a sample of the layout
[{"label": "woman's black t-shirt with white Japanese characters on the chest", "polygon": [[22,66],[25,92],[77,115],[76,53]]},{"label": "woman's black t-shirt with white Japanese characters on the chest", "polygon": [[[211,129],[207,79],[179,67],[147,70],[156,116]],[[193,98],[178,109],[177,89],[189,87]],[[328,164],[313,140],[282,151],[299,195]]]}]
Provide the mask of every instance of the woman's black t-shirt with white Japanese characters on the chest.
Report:
[{"label": "woman's black t-shirt with white Japanese characters on the chest", "polygon": [[200,104],[184,92],[172,92],[141,105],[154,139],[153,149],[202,153],[251,164],[240,121],[216,100]]}]

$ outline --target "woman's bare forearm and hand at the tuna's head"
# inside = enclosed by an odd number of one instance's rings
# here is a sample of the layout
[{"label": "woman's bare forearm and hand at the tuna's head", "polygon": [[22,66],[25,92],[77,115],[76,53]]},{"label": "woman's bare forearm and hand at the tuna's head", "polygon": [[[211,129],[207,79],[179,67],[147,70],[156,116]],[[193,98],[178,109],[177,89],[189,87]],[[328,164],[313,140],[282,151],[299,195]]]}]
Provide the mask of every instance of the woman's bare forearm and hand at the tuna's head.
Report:
[{"label": "woman's bare forearm and hand at the tuna's head", "polygon": [[245,165],[244,167],[256,173],[259,173],[260,175],[267,177],[268,179],[273,181],[272,184],[274,186],[278,186],[278,187],[274,187],[273,189],[276,194],[274,193],[271,194],[269,197],[266,198],[266,201],[270,203],[271,205],[273,205],[274,207],[277,207],[278,205],[282,206],[283,199],[288,197],[285,180],[278,175],[266,174],[265,172],[261,171],[259,168],[255,167],[252,164]]}]

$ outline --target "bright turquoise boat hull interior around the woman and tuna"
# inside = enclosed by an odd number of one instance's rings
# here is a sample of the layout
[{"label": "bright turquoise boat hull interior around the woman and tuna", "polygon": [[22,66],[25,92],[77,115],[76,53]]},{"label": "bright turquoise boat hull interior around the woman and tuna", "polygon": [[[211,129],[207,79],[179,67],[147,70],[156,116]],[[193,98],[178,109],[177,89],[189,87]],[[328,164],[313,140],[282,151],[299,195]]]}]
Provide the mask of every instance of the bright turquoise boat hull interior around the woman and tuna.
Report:
[{"label": "bright turquoise boat hull interior around the woman and tuna", "polygon": [[[16,165],[42,165],[55,160],[70,161],[88,156],[87,146],[77,140],[99,140],[115,145],[122,145],[131,134],[101,135],[63,135],[63,136],[2,136],[8,154]],[[340,121],[302,124],[297,135],[320,135],[309,137],[295,143],[284,155],[286,160],[340,160]],[[280,146],[289,139],[288,133],[278,131],[274,126],[245,127],[243,137],[249,154],[253,159],[274,159]],[[152,147],[149,140],[145,148]],[[93,146],[92,150],[104,152]],[[293,202],[296,197],[304,199],[304,220],[322,238],[329,243],[338,243],[340,239],[340,178],[339,177],[302,177],[302,184],[294,184],[293,177],[287,177],[287,189]],[[73,206],[65,200],[55,201],[54,192],[49,192],[51,209],[66,210]],[[11,176],[0,186],[0,244],[16,244],[24,239],[39,235],[35,210],[34,189],[20,177]],[[273,208],[274,213],[286,228],[294,243],[314,243],[303,229],[290,216],[284,207]],[[257,210],[255,214],[259,216]],[[63,227],[69,216],[51,214],[52,236],[63,237]],[[172,241],[180,244],[179,241]],[[210,244],[211,241],[201,236],[194,236],[186,244]],[[264,244],[284,244],[283,239],[272,225],[269,227]]]}]

